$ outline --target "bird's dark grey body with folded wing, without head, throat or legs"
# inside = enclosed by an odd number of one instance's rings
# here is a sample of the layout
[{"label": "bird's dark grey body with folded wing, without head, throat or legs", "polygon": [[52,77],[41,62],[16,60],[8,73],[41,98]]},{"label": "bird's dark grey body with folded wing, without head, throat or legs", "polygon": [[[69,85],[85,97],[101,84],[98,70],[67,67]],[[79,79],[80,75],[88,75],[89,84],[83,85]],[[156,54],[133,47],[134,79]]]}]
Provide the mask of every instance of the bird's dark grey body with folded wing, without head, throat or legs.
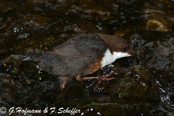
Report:
[{"label": "bird's dark grey body with folded wing, without head, throat or legs", "polygon": [[[38,62],[41,69],[50,74],[66,77],[85,76],[100,69],[99,62],[107,48],[97,34],[81,35],[51,51],[33,54],[31,57]],[[54,52],[57,49],[59,51]]]}]

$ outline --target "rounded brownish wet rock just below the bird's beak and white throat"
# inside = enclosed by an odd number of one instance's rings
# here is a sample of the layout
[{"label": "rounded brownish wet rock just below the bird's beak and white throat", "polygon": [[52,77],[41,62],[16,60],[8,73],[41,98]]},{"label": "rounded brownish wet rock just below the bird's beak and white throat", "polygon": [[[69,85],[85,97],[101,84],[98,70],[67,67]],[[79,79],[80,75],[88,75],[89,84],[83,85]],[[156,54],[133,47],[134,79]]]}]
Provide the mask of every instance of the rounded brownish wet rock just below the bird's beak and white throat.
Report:
[{"label": "rounded brownish wet rock just below the bird's beak and white throat", "polygon": [[147,68],[137,65],[125,70],[122,77],[119,77],[110,83],[107,89],[109,93],[127,99],[159,99],[155,75]]}]

